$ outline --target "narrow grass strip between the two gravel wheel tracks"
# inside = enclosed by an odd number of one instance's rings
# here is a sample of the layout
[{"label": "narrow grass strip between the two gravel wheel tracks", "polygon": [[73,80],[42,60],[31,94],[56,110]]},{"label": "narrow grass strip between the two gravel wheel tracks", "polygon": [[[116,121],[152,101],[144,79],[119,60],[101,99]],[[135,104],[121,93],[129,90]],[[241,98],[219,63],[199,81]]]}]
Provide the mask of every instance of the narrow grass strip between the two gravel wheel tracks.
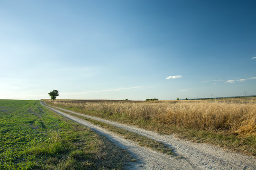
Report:
[{"label": "narrow grass strip between the two gravel wheel tracks", "polygon": [[[56,110],[59,110],[56,107],[54,107],[54,108]],[[59,111],[65,112],[65,113],[67,113],[69,115],[72,115],[74,117],[84,119],[84,120],[89,121],[89,122],[91,122],[95,125],[106,128],[111,132],[114,132],[114,133],[117,133],[117,134],[123,136],[125,139],[136,142],[140,146],[151,148],[155,151],[165,153],[166,155],[174,155],[174,152],[170,147],[168,147],[165,144],[162,144],[161,142],[158,142],[154,139],[150,139],[146,136],[138,135],[137,133],[134,133],[134,132],[131,132],[131,131],[128,131],[128,130],[125,130],[125,129],[122,129],[122,128],[119,128],[119,127],[115,127],[113,125],[103,123],[101,121],[97,121],[97,120],[93,120],[93,119],[86,118],[86,117],[83,117],[83,116],[79,116],[77,114],[73,114],[73,113],[70,113],[68,111],[64,111],[64,110],[59,110]]]}]

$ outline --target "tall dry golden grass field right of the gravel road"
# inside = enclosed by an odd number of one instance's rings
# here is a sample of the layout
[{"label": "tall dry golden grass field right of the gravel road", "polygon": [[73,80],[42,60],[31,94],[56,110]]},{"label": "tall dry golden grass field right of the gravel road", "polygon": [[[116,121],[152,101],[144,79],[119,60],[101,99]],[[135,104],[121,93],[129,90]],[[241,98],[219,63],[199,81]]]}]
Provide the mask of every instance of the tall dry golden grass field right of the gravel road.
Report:
[{"label": "tall dry golden grass field right of the gravel road", "polygon": [[53,102],[165,125],[256,136],[256,102]]}]

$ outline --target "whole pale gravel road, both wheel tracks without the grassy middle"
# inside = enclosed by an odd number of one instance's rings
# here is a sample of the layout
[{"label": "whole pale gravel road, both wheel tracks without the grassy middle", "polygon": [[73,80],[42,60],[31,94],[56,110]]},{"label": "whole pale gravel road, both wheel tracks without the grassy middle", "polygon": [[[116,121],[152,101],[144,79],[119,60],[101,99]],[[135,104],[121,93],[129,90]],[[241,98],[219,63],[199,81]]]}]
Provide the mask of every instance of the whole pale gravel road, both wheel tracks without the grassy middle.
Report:
[{"label": "whole pale gravel road, both wheel tracks without the grassy middle", "polygon": [[[233,153],[223,148],[210,144],[198,144],[174,137],[174,135],[160,135],[156,132],[142,128],[120,124],[117,122],[92,117],[76,113],[74,111],[46,105],[47,108],[63,115],[64,117],[76,121],[82,125],[90,127],[96,133],[106,136],[110,141],[119,147],[126,149],[137,161],[129,162],[125,169],[146,169],[146,170],[256,170],[256,159],[250,156]],[[56,110],[58,109],[58,110]],[[175,156],[168,156],[141,147],[123,137],[114,134],[104,128],[98,127],[86,120],[76,118],[60,110],[77,114],[86,118],[94,119],[110,125],[126,129],[141,136],[154,139],[166,144],[174,150]]]}]

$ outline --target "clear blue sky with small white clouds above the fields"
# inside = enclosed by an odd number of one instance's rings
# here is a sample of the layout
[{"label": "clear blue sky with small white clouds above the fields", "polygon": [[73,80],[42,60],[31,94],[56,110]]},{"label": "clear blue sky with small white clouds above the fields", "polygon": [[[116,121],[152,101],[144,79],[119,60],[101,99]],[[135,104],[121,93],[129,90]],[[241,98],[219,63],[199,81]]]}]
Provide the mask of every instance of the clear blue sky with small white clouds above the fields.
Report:
[{"label": "clear blue sky with small white clouds above the fields", "polygon": [[256,95],[255,0],[0,0],[0,99]]}]

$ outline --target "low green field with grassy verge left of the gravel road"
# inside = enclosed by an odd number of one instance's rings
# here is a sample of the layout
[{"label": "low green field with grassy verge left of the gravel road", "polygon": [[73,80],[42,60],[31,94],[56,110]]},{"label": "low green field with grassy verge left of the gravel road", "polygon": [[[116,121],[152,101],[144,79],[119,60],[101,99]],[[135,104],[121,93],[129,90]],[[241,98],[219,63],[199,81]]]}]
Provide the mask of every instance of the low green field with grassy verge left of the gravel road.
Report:
[{"label": "low green field with grassy verge left of the gravel road", "polygon": [[131,159],[38,101],[0,100],[0,170],[122,169]]}]

